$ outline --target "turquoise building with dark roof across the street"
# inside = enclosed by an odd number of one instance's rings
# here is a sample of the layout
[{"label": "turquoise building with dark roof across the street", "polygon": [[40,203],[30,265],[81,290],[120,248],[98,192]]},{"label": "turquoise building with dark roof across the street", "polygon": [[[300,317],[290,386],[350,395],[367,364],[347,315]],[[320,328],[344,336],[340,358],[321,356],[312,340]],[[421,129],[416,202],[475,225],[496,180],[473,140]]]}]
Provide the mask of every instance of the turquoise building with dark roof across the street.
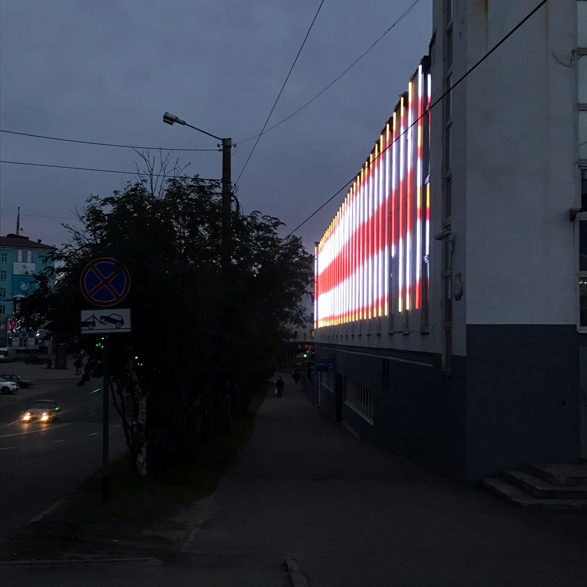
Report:
[{"label": "turquoise building with dark roof across the street", "polygon": [[36,288],[35,275],[55,266],[51,254],[55,247],[28,237],[7,234],[0,237],[0,347],[37,350],[46,345],[42,332],[21,325],[15,316],[15,298]]}]

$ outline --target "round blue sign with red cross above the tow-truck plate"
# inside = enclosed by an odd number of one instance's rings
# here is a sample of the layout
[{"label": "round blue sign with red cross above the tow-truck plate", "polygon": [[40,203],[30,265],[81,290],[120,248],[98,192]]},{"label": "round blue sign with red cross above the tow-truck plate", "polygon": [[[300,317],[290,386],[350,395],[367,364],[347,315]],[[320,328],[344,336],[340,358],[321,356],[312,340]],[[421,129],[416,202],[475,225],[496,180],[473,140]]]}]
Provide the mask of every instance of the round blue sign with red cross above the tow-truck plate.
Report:
[{"label": "round blue sign with red cross above the tow-truck plate", "polygon": [[116,306],[129,293],[130,275],[116,259],[102,257],[87,264],[80,278],[82,294],[95,306]]}]

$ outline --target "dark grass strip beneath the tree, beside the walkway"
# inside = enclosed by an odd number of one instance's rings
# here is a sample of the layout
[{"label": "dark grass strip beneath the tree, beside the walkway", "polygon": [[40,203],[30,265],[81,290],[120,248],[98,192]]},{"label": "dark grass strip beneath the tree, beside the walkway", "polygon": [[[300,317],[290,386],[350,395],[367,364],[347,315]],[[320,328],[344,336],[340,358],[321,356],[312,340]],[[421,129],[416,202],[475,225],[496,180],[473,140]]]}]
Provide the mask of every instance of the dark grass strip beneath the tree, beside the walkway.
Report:
[{"label": "dark grass strip beneath the tree, beside the walkway", "polygon": [[251,398],[247,415],[232,427],[230,434],[217,433],[210,441],[199,443],[189,459],[169,463],[156,478],[137,477],[130,457],[113,461],[109,467],[109,502],[102,504],[102,474],[97,473],[80,487],[59,517],[83,524],[111,525],[115,520],[149,523],[209,495],[247,441],[270,389],[272,385],[267,384]]}]

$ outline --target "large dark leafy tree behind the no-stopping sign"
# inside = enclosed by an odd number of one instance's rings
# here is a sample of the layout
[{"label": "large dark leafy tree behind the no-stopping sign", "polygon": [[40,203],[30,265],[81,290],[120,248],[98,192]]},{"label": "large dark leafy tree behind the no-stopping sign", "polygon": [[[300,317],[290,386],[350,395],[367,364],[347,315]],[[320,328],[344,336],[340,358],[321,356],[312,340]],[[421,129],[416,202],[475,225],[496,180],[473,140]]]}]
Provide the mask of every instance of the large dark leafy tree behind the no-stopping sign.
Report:
[{"label": "large dark leafy tree behind the no-stopping sign", "polygon": [[96,257],[129,269],[123,304],[133,332],[109,337],[107,393],[137,472],[147,475],[167,451],[210,438],[226,407],[237,414],[275,372],[289,337],[284,325],[308,320],[299,302],[312,257],[300,239],[278,237],[277,218],[233,212],[230,287],[222,288],[220,185],[198,176],[176,174],[163,187],[153,177],[129,183],[89,197],[77,217],[82,227],[66,226],[71,239],[55,254],[55,274],[39,276],[20,311],[85,356],[87,382],[102,375],[103,350],[98,335],[79,336],[79,311],[88,306],[80,274]]}]

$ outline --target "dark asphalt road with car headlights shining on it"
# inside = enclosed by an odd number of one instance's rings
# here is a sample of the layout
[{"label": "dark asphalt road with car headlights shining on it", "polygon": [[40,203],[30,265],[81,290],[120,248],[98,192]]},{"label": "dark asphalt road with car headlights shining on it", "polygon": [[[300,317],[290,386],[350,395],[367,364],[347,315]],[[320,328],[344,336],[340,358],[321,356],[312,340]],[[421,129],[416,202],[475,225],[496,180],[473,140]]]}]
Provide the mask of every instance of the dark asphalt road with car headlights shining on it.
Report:
[{"label": "dark asphalt road with car headlights shining on it", "polygon": [[[102,467],[100,382],[39,384],[28,397],[0,404],[0,541]],[[4,396],[3,396],[4,397]],[[29,402],[57,400],[59,421],[23,423]],[[124,450],[120,419],[110,406],[110,456]]]}]

